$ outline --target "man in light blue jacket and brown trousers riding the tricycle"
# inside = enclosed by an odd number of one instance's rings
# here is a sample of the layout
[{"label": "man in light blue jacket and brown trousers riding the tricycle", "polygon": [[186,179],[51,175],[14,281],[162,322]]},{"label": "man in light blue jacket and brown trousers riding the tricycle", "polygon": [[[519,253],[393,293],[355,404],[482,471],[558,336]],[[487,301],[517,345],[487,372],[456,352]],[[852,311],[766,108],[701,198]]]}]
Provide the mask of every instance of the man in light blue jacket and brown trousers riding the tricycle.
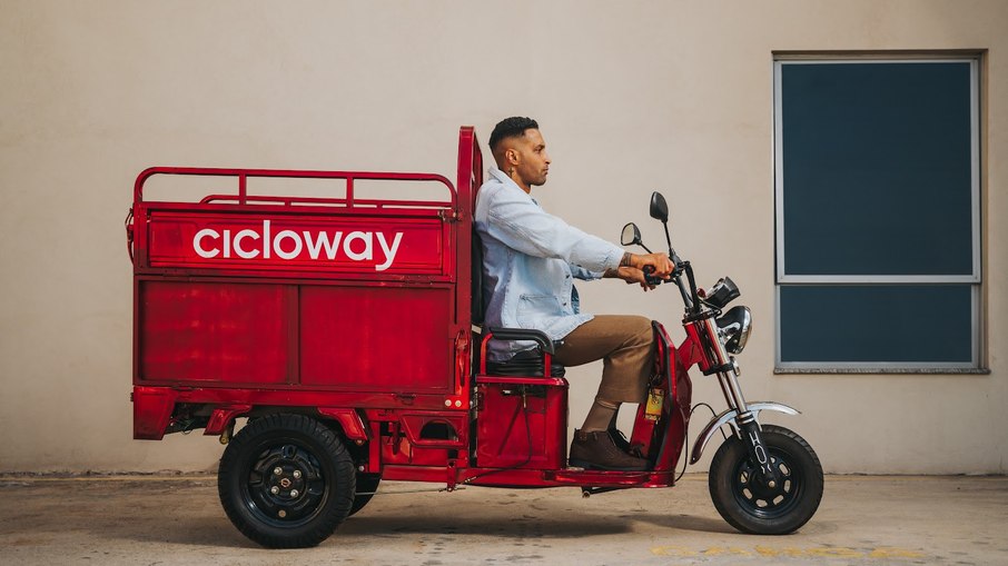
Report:
[{"label": "man in light blue jacket and brown trousers riding the tricycle", "polygon": [[[475,225],[484,248],[484,296],[487,326],[532,328],[563,340],[554,359],[564,366],[603,360],[602,384],[571,444],[572,466],[594,469],[646,469],[648,461],[614,443],[615,416],[622,403],[641,403],[653,368],[651,321],[639,316],[580,312],[573,278],[614,277],[653,288],[643,269],[668,278],[673,265],[665,254],[635,255],[569,226],[533,200],[532,187],[546,182],[550,156],[530,118],[507,118],[490,137],[496,168],[476,197]],[[488,356],[506,360],[530,342],[491,344]],[[620,436],[622,439],[622,436]],[[625,443],[625,441],[624,441]]]}]

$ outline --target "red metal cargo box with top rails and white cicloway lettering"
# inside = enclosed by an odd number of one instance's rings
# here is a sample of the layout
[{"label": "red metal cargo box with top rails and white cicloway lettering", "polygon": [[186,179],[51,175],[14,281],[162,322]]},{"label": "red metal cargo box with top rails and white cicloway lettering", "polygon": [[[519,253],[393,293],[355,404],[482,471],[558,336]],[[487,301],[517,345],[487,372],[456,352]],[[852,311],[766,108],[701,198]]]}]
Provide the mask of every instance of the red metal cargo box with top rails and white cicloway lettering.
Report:
[{"label": "red metal cargo box with top rails and white cicloway lettering", "polygon": [[[470,255],[482,163],[471,129],[462,141],[458,191],[432,173],[144,171],[128,222],[135,397],[150,396],[137,399],[138,420],[157,428],[162,406],[177,403],[467,409],[471,277],[457,258]],[[182,177],[230,178],[234,190],[145,200],[156,176],[169,191]],[[257,179],[320,179],[343,190],[251,195]],[[398,195],[417,185],[428,195],[434,183],[443,197],[365,198],[363,181]],[[139,415],[145,407],[157,415]]]}]

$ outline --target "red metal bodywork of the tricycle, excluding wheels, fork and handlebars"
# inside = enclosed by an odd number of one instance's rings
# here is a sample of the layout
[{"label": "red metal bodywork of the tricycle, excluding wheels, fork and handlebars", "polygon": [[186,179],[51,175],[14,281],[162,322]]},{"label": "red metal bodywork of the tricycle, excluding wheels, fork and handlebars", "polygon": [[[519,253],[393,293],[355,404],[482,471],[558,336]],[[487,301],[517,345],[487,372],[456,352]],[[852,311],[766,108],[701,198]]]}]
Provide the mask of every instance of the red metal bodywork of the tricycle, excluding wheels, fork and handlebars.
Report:
[{"label": "red metal bodywork of the tricycle, excluding wheels, fork and handlebars", "polygon": [[[689,421],[686,368],[702,358],[694,336],[676,350],[655,325],[656,386],[666,399],[658,421],[642,406],[631,437],[655,461],[650,471],[566,467],[567,381],[550,376],[549,359],[543,377],[474,368],[485,349],[484,340],[474,356],[471,317],[482,171],[475,132],[463,127],[454,187],[431,173],[141,172],[127,222],[134,437],[160,439],[187,411],[207,419],[207,435],[227,434],[240,416],[300,411],[330,420],[363,470],[386,479],[449,488],[671,486]],[[145,182],[159,175],[230,177],[237,188],[198,202],[144,200]],[[250,196],[249,178],[342,179],[345,193]],[[449,198],[362,199],[362,179],[437,182]],[[399,248],[389,245],[395,234]]]}]

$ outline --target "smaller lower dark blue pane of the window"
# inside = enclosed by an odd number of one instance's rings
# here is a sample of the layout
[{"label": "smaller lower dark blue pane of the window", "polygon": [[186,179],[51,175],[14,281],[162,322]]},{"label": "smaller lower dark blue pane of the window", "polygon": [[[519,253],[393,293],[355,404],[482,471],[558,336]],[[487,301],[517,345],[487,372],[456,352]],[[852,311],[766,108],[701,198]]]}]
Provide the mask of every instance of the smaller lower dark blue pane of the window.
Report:
[{"label": "smaller lower dark blue pane of the window", "polygon": [[788,285],[781,361],[972,361],[971,286]]}]

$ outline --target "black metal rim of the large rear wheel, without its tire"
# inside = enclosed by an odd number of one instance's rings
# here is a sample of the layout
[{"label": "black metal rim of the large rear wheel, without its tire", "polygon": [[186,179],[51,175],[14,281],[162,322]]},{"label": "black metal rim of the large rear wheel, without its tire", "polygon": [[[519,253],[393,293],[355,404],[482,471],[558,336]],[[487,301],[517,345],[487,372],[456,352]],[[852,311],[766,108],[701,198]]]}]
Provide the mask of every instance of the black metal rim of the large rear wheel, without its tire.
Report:
[{"label": "black metal rim of the large rear wheel, without its tire", "polygon": [[269,444],[255,451],[240,488],[243,503],[274,527],[310,522],[329,497],[319,458],[295,440]]}]

